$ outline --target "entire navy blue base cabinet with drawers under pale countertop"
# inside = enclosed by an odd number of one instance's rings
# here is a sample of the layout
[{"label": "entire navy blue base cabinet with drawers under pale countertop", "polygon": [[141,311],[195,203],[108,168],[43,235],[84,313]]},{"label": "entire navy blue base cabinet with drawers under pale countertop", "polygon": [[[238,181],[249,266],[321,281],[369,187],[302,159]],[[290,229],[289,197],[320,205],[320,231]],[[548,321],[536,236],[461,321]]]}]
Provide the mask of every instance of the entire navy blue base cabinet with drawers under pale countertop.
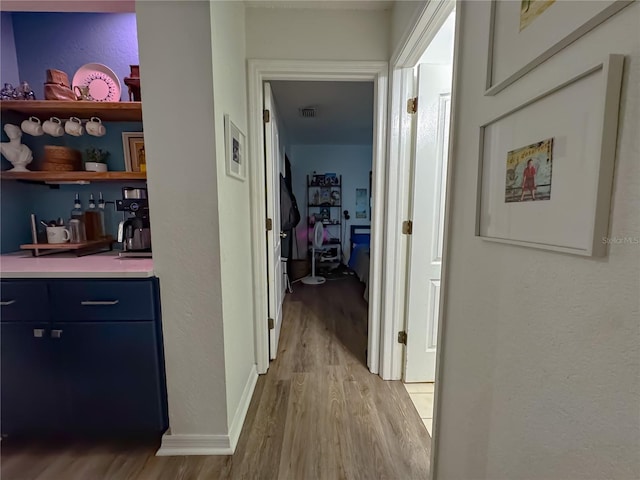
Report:
[{"label": "entire navy blue base cabinet with drawers under pale countertop", "polygon": [[[40,292],[37,312],[5,305],[25,289]],[[3,281],[2,292],[3,435],[166,430],[157,279]]]}]

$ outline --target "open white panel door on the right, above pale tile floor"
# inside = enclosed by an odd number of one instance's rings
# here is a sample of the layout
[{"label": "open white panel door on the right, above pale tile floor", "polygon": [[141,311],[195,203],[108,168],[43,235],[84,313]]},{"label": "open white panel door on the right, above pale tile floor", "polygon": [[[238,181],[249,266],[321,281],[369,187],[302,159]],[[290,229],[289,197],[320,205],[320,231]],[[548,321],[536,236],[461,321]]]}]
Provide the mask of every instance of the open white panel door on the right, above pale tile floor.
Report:
[{"label": "open white panel door on the right, above pale tile floor", "polygon": [[435,381],[451,65],[418,67],[405,382]]}]

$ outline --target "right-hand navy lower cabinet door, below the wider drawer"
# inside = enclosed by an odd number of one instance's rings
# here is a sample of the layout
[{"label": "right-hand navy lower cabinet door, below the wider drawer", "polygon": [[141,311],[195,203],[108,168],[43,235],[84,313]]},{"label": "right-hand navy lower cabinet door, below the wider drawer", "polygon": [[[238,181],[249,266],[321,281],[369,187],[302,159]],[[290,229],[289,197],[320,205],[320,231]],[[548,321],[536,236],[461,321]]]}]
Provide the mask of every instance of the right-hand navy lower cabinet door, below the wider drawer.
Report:
[{"label": "right-hand navy lower cabinet door, below the wider drawer", "polygon": [[54,323],[52,329],[64,357],[70,430],[121,434],[166,428],[154,322]]}]

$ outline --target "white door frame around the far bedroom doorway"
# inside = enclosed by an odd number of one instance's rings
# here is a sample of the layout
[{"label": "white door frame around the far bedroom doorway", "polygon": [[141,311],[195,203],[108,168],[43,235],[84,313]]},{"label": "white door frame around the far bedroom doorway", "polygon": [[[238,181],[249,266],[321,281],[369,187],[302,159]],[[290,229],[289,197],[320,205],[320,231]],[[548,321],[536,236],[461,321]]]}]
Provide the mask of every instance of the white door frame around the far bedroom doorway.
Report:
[{"label": "white door frame around the far bedroom doorway", "polygon": [[[391,331],[392,322],[381,316],[383,295],[383,232],[385,224],[386,135],[387,135],[387,62],[248,60],[249,90],[249,178],[251,186],[251,245],[255,349],[258,373],[269,368],[269,331],[267,326],[267,243],[265,235],[264,131],[262,128],[262,84],[273,80],[372,81],[374,84],[373,119],[373,199],[371,218],[371,266],[369,273],[369,340],[367,366],[382,378],[384,364],[382,339]],[[389,317],[386,317],[389,318]],[[382,337],[382,338],[381,338]]]}]

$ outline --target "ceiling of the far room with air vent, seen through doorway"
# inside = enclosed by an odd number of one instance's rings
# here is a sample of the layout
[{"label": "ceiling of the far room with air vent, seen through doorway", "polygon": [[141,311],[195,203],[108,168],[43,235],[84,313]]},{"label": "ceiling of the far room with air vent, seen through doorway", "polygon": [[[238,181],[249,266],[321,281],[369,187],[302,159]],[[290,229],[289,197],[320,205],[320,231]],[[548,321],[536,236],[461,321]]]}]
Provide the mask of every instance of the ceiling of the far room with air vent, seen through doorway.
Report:
[{"label": "ceiling of the far room with air vent, seen through doorway", "polygon": [[[373,142],[372,82],[273,81],[278,118],[290,145],[370,145]],[[299,109],[316,107],[315,118]]]}]

